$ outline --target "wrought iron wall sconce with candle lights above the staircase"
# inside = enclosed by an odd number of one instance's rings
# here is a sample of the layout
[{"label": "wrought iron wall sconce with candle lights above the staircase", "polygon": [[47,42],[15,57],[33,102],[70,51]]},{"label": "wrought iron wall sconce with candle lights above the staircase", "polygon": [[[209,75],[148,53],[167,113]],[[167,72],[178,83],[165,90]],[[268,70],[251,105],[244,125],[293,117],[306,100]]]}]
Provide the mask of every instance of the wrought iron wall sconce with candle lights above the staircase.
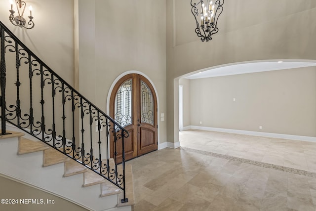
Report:
[{"label": "wrought iron wall sconce with candle lights above the staircase", "polygon": [[14,0],[14,2],[16,3],[16,8],[18,10],[18,15],[14,17],[14,13],[15,11],[13,10],[13,0],[10,0],[10,4],[11,4],[11,9],[10,11],[10,16],[9,16],[9,20],[10,22],[14,25],[14,26],[19,26],[19,27],[24,27],[26,29],[32,29],[34,27],[34,22],[33,22],[33,16],[32,16],[32,6],[29,6],[29,10],[30,10],[30,16],[29,17],[29,22],[26,24],[26,20],[23,17],[24,14],[24,10],[26,7],[26,3],[25,1],[22,0]]}]

